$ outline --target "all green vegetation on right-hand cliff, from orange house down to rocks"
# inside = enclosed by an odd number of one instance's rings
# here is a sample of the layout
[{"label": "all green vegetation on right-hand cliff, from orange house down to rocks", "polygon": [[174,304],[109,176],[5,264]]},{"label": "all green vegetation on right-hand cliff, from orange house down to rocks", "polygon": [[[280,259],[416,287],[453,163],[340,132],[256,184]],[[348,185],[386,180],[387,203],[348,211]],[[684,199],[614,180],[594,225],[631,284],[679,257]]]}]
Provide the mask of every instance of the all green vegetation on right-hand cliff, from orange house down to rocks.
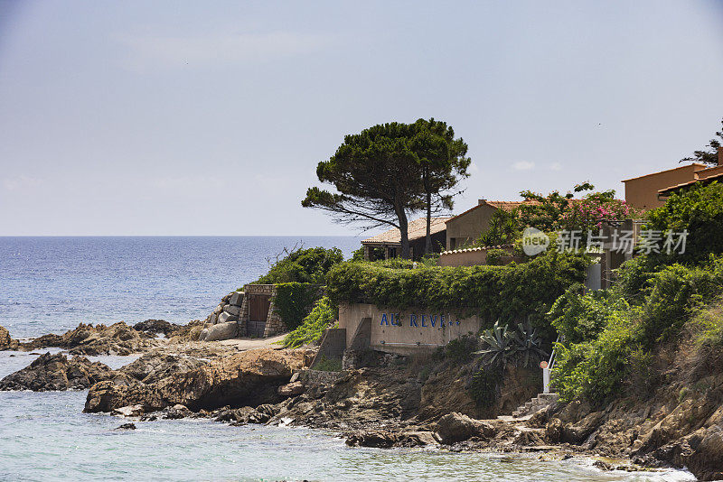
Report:
[{"label": "all green vegetation on right-hand cliff, from orange house down to rocks", "polygon": [[640,392],[660,383],[653,366],[662,350],[688,357],[684,342],[699,346],[705,338],[715,345],[715,307],[723,293],[721,208],[717,183],[673,195],[650,213],[648,228],[687,229],[685,254],[639,256],[621,267],[612,289],[585,294],[572,287],[555,302],[549,315],[565,343],[553,377],[564,400],[600,404]]}]

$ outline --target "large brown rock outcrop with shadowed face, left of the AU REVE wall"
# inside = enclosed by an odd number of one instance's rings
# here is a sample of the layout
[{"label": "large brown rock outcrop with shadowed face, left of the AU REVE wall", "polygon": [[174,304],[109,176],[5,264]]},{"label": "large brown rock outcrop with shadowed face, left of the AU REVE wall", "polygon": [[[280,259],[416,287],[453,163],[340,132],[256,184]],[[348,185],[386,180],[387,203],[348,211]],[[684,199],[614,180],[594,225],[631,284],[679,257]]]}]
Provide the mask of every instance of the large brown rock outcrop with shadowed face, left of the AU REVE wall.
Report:
[{"label": "large brown rock outcrop with shadowed face, left of the AU REVE wall", "polygon": [[292,370],[303,367],[304,361],[305,350],[268,348],[244,351],[200,366],[177,365],[173,369],[167,366],[170,362],[166,359],[151,372],[154,376],[143,378],[147,383],[137,378],[147,369],[132,368],[127,373],[136,376],[125,383],[93,385],[85,412],[110,412],[136,404],[153,412],[178,403],[198,411],[224,405],[278,402],[278,385],[288,380]]}]

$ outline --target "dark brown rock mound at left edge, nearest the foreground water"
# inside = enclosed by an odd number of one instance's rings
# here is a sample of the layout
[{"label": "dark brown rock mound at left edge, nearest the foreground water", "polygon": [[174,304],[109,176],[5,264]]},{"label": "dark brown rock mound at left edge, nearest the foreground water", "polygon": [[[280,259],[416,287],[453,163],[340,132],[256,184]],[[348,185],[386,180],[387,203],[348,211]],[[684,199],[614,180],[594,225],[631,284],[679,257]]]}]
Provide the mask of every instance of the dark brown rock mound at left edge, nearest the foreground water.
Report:
[{"label": "dark brown rock mound at left edge, nearest the foreground water", "polygon": [[72,357],[69,360],[60,353],[46,353],[33,360],[30,366],[5,376],[0,381],[0,390],[82,390],[117,377],[123,379],[125,376],[102,363],[90,362],[88,358]]}]

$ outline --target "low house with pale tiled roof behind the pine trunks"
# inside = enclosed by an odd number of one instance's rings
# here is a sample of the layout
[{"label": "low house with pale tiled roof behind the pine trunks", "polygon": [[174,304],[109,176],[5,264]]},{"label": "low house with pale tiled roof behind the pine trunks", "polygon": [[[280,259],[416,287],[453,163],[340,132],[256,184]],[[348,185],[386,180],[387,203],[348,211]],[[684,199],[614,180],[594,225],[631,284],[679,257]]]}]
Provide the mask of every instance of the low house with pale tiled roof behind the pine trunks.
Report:
[{"label": "low house with pale tiled roof behind the pine trunks", "polygon": [[[446,225],[449,218],[432,218],[429,232],[432,237],[432,251],[444,251],[446,242]],[[427,236],[427,218],[418,218],[408,223],[407,236],[412,259],[419,259],[424,254],[425,237]],[[384,231],[377,236],[371,236],[362,241],[364,259],[390,259],[401,255],[401,234],[396,227]]]}]

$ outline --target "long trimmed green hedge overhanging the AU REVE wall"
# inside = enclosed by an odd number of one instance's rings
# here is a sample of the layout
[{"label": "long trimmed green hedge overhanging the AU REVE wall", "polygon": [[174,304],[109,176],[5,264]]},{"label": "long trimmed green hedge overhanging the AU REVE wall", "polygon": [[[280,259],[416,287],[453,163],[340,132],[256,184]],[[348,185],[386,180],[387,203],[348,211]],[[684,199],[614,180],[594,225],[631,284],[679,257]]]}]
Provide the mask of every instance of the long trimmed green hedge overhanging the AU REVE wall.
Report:
[{"label": "long trimmed green hedge overhanging the AU REVE wall", "polygon": [[463,310],[485,320],[529,317],[533,325],[549,330],[544,314],[570,285],[585,280],[587,264],[582,255],[556,251],[505,266],[418,266],[412,270],[342,263],[329,272],[327,292],[337,304]]}]

